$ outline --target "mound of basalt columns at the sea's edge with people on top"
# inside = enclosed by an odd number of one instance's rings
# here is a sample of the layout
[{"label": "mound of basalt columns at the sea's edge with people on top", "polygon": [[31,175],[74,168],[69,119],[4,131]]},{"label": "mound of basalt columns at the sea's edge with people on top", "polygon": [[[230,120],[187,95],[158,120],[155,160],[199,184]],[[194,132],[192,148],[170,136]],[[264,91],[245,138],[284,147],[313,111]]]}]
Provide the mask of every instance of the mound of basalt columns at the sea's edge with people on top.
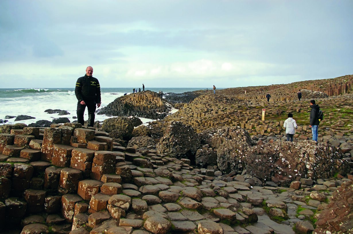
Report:
[{"label": "mound of basalt columns at the sea's edge with people on top", "polygon": [[144,91],[118,97],[106,107],[97,110],[97,114],[108,116],[137,116],[148,119],[163,119],[170,107],[161,97],[152,91]]}]

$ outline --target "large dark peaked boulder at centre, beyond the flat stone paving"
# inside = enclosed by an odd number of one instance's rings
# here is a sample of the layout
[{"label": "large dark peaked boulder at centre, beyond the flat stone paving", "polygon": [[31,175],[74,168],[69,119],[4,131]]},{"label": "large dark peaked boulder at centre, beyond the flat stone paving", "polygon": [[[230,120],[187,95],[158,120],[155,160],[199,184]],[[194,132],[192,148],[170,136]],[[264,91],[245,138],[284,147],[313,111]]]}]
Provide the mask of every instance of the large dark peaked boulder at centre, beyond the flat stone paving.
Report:
[{"label": "large dark peaked boulder at centre, beyond the flat stone paving", "polygon": [[157,144],[158,153],[169,153],[170,157],[194,159],[201,145],[198,134],[190,125],[172,121]]}]

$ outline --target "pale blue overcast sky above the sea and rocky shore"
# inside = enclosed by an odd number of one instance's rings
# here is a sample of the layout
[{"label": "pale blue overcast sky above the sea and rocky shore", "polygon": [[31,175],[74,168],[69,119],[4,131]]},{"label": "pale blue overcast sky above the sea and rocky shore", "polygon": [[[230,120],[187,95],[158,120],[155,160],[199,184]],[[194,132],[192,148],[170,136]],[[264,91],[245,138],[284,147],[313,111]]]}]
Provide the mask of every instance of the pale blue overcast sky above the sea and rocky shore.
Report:
[{"label": "pale blue overcast sky above the sea and rocky shore", "polygon": [[0,0],[0,88],[242,87],[353,74],[352,0]]}]

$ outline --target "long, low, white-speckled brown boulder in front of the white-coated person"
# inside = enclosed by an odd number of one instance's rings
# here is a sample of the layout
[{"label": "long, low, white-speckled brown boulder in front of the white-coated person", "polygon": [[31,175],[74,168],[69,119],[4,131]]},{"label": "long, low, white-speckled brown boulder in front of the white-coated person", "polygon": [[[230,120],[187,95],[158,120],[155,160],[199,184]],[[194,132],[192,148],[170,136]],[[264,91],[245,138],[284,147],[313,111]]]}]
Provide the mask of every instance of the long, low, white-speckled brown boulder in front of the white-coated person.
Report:
[{"label": "long, low, white-speckled brown boulder in front of the white-coated person", "polygon": [[[335,146],[314,141],[276,141],[254,146],[240,154],[232,168],[244,165],[249,174],[263,182],[289,186],[300,178],[317,180],[334,177],[336,173],[345,176],[351,169],[342,158],[344,154]],[[221,167],[219,159],[217,161]]]}]

